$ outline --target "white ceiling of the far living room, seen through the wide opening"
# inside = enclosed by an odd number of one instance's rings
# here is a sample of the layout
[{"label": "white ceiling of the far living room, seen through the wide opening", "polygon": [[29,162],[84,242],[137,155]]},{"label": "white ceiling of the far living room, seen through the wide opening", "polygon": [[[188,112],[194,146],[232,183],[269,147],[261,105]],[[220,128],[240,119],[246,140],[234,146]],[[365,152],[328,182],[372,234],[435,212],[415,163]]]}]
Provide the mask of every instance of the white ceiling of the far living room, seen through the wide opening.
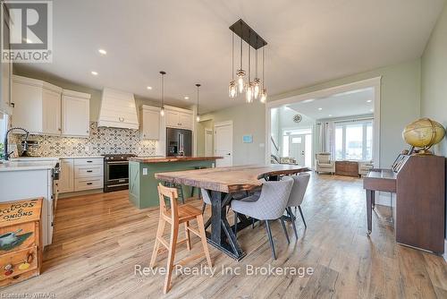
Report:
[{"label": "white ceiling of the far living room, seen through the wide opening", "polygon": [[[352,90],[328,98],[309,99],[287,105],[297,113],[313,119],[336,118],[374,113],[374,89]],[[321,108],[321,110],[320,110]]]}]

